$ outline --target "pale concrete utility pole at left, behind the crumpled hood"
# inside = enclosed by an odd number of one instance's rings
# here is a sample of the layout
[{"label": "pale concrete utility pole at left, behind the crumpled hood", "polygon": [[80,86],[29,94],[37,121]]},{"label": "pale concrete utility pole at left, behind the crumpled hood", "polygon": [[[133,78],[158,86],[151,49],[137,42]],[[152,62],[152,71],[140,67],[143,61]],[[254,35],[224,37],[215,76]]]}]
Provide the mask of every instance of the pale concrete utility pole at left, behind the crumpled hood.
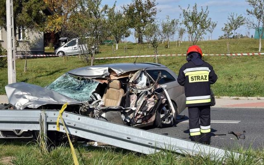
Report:
[{"label": "pale concrete utility pole at left, behind the crumpled hood", "polygon": [[15,36],[14,36],[14,15],[13,15],[13,0],[6,0],[7,3],[7,69],[8,69],[8,84],[16,82],[15,58],[14,51]]}]

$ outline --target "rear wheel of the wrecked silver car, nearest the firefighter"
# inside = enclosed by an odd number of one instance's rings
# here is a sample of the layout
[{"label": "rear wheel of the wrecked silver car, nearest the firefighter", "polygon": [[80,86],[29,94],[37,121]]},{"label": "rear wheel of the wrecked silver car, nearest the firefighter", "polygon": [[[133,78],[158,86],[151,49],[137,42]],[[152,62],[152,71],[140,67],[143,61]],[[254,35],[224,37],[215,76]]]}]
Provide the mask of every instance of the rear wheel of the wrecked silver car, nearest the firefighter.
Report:
[{"label": "rear wheel of the wrecked silver car, nearest the firefighter", "polygon": [[[178,115],[177,106],[174,102],[172,102],[172,105],[174,107],[174,110],[176,111],[176,115]],[[157,111],[156,119],[155,119],[155,125],[158,128],[165,128],[165,127],[171,127],[175,123],[175,119],[172,114],[170,106],[168,105],[168,102],[165,103],[161,109]]]}]

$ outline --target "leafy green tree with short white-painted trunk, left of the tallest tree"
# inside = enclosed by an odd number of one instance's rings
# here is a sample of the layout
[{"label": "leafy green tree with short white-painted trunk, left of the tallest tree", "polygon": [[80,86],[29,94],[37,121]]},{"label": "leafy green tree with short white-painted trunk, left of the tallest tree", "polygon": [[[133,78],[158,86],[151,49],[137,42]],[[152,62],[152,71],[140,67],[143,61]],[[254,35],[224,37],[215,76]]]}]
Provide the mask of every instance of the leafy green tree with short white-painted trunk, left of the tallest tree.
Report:
[{"label": "leafy green tree with short white-painted trunk, left of the tallest tree", "polygon": [[128,27],[127,18],[121,11],[115,12],[116,5],[108,10],[108,24],[111,35],[117,42],[116,50],[118,49],[118,43],[124,37],[130,36],[130,30]]}]

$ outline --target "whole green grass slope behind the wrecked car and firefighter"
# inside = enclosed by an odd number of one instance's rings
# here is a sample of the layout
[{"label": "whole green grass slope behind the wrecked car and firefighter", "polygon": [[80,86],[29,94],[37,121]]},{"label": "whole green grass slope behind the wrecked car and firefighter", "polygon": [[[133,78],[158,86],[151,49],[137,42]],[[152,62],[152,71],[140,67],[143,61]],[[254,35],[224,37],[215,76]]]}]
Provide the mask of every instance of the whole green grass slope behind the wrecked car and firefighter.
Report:
[{"label": "whole green grass slope behind the wrecked car and firefighter", "polygon": [[[197,44],[205,54],[226,53],[226,40],[200,41]],[[262,42],[264,43],[264,41]],[[125,44],[119,44],[116,54],[112,53],[111,45],[100,47],[101,53],[97,57],[126,56],[126,55],[146,55],[153,54],[147,44],[129,43],[128,52],[124,53]],[[180,47],[172,42],[169,49],[165,49],[161,44],[159,54],[185,54],[189,46],[188,42],[183,42]],[[240,39],[230,40],[231,53],[257,52],[258,40]],[[263,44],[264,47],[264,44]],[[50,48],[47,51],[53,51]],[[204,60],[209,62],[218,75],[218,81],[212,85],[216,96],[244,96],[263,97],[264,96],[264,56],[205,56]],[[95,65],[108,63],[133,63],[135,58],[95,60]],[[137,62],[155,62],[153,58],[138,58]],[[180,67],[186,62],[185,57],[160,57],[159,62],[178,74]],[[28,71],[24,70],[24,59],[16,60],[17,82],[27,82],[34,85],[46,86],[65,72],[84,67],[89,64],[84,63],[77,56],[66,58],[39,58],[28,59]],[[0,94],[5,94],[4,86],[7,85],[7,68],[0,69]]]}]

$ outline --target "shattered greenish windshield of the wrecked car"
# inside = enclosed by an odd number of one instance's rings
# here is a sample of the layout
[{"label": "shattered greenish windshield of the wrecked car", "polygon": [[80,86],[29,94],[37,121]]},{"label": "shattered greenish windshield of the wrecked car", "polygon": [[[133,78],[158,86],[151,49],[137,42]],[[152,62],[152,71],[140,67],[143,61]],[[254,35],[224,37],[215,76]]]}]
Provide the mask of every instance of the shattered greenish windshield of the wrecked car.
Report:
[{"label": "shattered greenish windshield of the wrecked car", "polygon": [[66,73],[46,86],[46,88],[80,102],[88,102],[98,84],[99,82],[97,81],[74,77]]}]

